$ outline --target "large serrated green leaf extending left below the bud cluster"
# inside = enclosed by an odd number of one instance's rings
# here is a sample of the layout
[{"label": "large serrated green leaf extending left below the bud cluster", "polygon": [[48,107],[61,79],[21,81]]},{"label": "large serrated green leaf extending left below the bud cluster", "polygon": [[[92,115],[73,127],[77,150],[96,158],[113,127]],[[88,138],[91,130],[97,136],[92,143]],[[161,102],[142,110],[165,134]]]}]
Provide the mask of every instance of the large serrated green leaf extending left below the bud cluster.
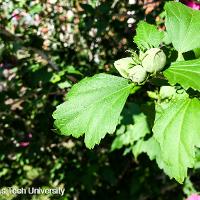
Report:
[{"label": "large serrated green leaf extending left below the bud cluster", "polygon": [[75,84],[68,100],[53,113],[55,126],[64,135],[80,137],[93,148],[106,133],[113,133],[132,84],[117,76],[98,74]]}]

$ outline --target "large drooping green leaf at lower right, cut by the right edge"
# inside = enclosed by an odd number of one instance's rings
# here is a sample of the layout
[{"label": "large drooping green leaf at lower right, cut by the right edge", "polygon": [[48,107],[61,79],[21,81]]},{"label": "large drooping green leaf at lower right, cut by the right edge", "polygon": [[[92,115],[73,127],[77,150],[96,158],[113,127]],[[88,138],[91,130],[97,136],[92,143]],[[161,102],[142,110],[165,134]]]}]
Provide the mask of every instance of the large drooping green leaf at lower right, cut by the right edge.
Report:
[{"label": "large drooping green leaf at lower right, cut by the right edge", "polygon": [[[175,101],[155,121],[154,137],[160,145],[156,157],[161,168],[178,182],[195,163],[195,146],[200,147],[200,101],[183,98]],[[160,154],[160,155],[159,155]]]}]

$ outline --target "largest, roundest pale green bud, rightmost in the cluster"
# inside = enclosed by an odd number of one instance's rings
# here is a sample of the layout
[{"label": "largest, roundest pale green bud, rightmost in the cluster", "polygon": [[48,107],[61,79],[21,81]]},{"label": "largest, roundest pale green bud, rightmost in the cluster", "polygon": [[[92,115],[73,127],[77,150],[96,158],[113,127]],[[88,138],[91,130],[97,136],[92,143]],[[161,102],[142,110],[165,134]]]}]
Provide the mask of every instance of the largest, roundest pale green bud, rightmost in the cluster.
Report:
[{"label": "largest, roundest pale green bud, rightmost in the cluster", "polygon": [[142,66],[147,72],[156,73],[161,71],[166,64],[166,55],[159,48],[152,48],[145,52]]}]

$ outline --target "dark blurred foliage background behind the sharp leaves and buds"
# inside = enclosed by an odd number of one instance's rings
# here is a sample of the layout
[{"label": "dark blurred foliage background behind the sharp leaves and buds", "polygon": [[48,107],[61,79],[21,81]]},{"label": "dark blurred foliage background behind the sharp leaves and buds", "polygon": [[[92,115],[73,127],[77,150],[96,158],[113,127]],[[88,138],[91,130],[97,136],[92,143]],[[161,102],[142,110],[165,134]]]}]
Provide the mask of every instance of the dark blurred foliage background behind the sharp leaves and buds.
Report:
[{"label": "dark blurred foliage background behind the sharp leaves and buds", "polygon": [[136,161],[117,133],[88,150],[83,138],[53,126],[52,112],[73,84],[100,72],[119,75],[113,62],[136,49],[139,20],[163,28],[165,2],[0,0],[0,188],[65,188],[63,197],[0,200],[178,200],[199,189],[197,171],[179,185],[146,155]]}]

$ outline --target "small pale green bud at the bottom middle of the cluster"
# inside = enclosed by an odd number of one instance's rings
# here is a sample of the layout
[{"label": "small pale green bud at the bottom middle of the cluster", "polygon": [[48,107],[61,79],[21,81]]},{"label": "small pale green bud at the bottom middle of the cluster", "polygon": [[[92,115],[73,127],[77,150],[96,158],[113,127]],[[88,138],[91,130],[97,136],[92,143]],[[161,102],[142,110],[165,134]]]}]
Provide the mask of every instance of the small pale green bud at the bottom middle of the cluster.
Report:
[{"label": "small pale green bud at the bottom middle of the cluster", "polygon": [[136,65],[133,68],[129,69],[129,78],[134,83],[142,83],[147,78],[147,72],[141,65]]}]

